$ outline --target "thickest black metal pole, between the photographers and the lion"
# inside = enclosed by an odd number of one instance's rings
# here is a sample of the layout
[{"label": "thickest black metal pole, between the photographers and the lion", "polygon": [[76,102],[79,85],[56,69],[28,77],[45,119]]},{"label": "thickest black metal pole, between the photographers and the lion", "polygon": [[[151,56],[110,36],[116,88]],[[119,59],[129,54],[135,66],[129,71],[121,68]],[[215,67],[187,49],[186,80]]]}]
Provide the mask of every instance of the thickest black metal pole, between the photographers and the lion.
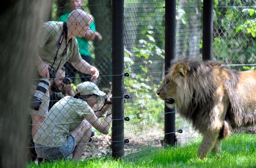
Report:
[{"label": "thickest black metal pole, between the photographers and the lion", "polygon": [[124,0],[112,0],[112,157],[124,156]]}]

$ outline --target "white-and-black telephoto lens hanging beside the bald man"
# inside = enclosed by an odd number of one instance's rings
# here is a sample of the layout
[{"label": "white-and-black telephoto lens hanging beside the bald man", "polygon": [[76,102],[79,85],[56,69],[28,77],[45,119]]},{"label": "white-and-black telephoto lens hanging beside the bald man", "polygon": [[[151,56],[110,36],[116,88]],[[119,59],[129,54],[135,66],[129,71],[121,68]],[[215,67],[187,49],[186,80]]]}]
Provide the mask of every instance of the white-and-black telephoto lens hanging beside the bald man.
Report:
[{"label": "white-and-black telephoto lens hanging beside the bald man", "polygon": [[34,109],[36,111],[39,110],[39,108],[42,104],[42,97],[44,96],[47,89],[49,88],[49,85],[50,85],[49,79],[43,78],[40,80],[40,82],[38,83],[38,85],[36,87],[36,91],[30,101],[31,109]]}]

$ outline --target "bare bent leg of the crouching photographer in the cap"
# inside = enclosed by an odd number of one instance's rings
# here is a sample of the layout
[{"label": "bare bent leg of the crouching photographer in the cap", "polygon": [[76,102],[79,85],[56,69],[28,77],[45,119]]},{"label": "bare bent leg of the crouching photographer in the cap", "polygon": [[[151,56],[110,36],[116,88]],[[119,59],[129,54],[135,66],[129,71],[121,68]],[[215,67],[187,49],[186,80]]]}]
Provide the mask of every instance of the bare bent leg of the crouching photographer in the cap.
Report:
[{"label": "bare bent leg of the crouching photographer in the cap", "polygon": [[88,121],[83,120],[82,123],[70,132],[76,140],[76,147],[73,152],[72,160],[79,160],[84,151],[86,150],[87,144],[92,134],[92,126]]}]

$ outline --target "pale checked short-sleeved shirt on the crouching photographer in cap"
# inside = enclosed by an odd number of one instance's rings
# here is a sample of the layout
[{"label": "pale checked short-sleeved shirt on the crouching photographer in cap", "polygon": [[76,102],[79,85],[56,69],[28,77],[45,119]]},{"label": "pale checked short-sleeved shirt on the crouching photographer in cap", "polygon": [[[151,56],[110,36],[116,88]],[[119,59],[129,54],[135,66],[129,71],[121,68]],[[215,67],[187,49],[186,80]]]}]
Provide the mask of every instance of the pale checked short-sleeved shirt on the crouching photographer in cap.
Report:
[{"label": "pale checked short-sleeved shirt on the crouching photographer in cap", "polygon": [[35,134],[34,142],[45,146],[62,146],[70,131],[78,127],[84,114],[94,113],[81,99],[66,96],[58,101],[46,115],[44,122]]}]

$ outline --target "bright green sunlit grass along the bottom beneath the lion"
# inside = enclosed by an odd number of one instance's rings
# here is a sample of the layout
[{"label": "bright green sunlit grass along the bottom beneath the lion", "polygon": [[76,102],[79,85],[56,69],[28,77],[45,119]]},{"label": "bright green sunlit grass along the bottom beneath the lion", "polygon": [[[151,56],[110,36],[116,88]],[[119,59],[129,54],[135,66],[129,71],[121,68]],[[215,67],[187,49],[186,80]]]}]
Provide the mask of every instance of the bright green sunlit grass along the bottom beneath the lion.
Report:
[{"label": "bright green sunlit grass along the bottom beneath the lion", "polygon": [[[123,160],[100,158],[73,162],[56,161],[28,164],[26,168],[254,168],[256,167],[256,137],[252,134],[233,134],[222,143],[220,155],[210,153],[207,159],[200,160],[196,151],[200,142],[186,146],[168,148],[147,148],[137,157],[127,156]],[[131,159],[132,158],[132,159]]]}]

